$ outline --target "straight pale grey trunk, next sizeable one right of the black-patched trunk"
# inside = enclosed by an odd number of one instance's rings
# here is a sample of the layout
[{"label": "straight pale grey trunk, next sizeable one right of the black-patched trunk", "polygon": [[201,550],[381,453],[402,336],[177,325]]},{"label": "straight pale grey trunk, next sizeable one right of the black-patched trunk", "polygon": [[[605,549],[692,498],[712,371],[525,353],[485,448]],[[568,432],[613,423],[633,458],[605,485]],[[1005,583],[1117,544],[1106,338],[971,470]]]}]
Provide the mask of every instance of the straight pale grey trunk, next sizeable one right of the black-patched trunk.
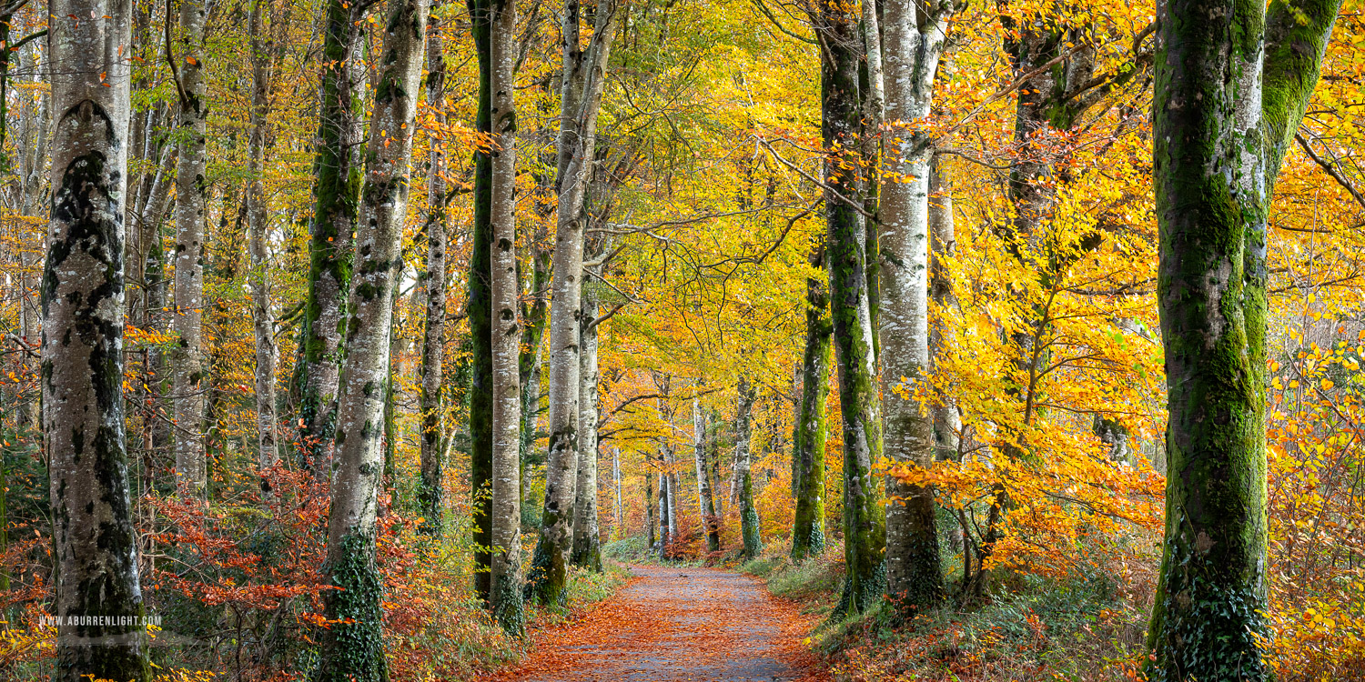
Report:
[{"label": "straight pale grey trunk, next sizeable one right of the black-patched trunk", "polygon": [[209,391],[203,361],[203,224],[207,198],[207,82],[203,74],[203,0],[180,3],[179,50],[171,55],[179,72],[180,161],[175,179],[175,314],[179,337],[172,352],[172,406],[175,411],[175,477],[182,494],[209,492],[203,415]]}]

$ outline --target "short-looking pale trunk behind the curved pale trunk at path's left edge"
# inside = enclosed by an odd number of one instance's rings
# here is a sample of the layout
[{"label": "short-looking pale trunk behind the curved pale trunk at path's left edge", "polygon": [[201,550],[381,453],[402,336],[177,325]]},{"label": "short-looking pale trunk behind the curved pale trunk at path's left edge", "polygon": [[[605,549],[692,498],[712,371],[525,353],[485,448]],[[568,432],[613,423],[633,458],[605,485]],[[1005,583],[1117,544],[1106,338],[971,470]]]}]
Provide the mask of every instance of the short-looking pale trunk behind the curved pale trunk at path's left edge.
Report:
[{"label": "short-looking pale trunk behind the curved pale trunk at path's left edge", "polygon": [[575,566],[602,572],[602,547],[598,536],[598,329],[594,323],[598,315],[598,301],[592,292],[583,296],[583,348],[579,368],[579,480],[577,499],[573,503],[573,555]]}]

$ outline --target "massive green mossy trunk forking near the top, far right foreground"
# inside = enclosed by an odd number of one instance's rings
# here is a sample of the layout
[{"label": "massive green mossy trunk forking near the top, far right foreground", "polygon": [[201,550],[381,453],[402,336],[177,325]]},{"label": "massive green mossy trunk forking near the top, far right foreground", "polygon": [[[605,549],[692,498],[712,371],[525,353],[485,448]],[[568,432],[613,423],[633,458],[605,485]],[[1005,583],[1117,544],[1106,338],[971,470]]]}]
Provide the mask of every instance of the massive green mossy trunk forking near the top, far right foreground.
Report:
[{"label": "massive green mossy trunk forking near the top, far right foreground", "polygon": [[1166,544],[1153,681],[1272,677],[1265,495],[1265,228],[1339,0],[1158,7],[1153,184],[1166,348]]}]

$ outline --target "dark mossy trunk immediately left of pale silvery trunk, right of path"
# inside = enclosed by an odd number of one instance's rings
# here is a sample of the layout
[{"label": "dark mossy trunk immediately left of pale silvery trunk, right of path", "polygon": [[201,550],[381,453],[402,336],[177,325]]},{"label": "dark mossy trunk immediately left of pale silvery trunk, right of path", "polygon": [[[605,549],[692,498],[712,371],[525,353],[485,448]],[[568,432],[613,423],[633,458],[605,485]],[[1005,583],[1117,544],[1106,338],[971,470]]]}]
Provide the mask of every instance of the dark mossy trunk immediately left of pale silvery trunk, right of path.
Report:
[{"label": "dark mossy trunk immediately left of pale silvery trunk, right of path", "polygon": [[[830,259],[830,308],[844,416],[844,595],[835,614],[860,612],[882,596],[886,581],[886,513],[872,462],[882,457],[882,409],[867,285],[867,233],[859,175],[857,18],[848,4],[822,0],[822,135],[827,158],[824,214]],[[848,203],[848,202],[852,202]]]}]

